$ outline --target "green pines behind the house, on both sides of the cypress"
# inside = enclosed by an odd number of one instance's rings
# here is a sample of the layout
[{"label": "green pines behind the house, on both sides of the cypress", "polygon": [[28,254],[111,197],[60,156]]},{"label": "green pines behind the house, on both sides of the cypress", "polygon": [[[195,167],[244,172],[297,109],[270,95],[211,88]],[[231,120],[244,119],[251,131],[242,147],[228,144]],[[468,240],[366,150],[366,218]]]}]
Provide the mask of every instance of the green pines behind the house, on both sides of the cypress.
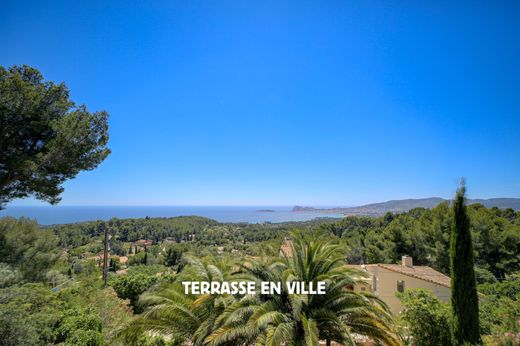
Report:
[{"label": "green pines behind the house, on both sides of the cypress", "polygon": [[[520,271],[520,213],[485,208],[467,208],[470,218],[476,275],[479,283],[498,280]],[[430,266],[449,275],[449,247],[453,210],[448,202],[435,208],[417,208],[382,217],[349,216],[320,227],[341,236],[349,250],[349,263],[398,263],[402,255],[417,265]]]}]

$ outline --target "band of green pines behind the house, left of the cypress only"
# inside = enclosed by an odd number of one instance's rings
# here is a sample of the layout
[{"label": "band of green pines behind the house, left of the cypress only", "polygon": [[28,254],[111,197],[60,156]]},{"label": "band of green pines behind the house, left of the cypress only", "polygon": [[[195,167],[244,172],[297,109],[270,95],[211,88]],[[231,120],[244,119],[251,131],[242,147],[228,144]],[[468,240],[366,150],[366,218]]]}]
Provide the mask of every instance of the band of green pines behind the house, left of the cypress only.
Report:
[{"label": "band of green pines behind the house, left of the cypress only", "polygon": [[341,234],[350,248],[349,263],[396,263],[409,255],[418,265],[448,273],[450,221],[448,204],[441,203],[432,210],[416,208],[377,218],[349,216],[322,227]]}]

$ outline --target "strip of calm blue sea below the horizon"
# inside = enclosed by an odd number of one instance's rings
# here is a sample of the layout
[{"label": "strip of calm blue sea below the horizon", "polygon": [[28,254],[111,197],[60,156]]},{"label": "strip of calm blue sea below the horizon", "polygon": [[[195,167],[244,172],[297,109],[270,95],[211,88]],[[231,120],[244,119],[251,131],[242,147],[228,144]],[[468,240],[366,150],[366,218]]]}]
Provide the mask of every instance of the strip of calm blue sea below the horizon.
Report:
[{"label": "strip of calm blue sea below the horizon", "polygon": [[[261,210],[273,210],[265,212]],[[308,221],[321,217],[340,218],[342,214],[293,212],[289,206],[16,206],[0,210],[0,217],[27,217],[41,225],[54,225],[111,218],[174,217],[197,215],[219,222],[288,222]]]}]

